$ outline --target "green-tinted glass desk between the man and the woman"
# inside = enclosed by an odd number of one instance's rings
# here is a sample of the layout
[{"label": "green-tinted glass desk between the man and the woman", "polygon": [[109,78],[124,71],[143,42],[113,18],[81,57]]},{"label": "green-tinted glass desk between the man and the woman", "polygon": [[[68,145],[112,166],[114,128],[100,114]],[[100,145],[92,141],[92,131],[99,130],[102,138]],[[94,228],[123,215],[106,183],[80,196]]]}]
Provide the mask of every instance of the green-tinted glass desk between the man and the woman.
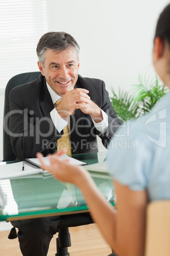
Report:
[{"label": "green-tinted glass desk between the man and the woman", "polygon": [[[103,162],[106,153],[84,153],[72,157],[87,164],[95,164]],[[114,188],[110,176],[106,174],[103,177],[100,173],[96,176],[91,174],[91,176],[101,193],[114,205]],[[1,180],[0,186],[6,197],[4,207],[0,209],[0,221],[88,211],[84,197],[77,187],[55,180],[49,173]]]}]

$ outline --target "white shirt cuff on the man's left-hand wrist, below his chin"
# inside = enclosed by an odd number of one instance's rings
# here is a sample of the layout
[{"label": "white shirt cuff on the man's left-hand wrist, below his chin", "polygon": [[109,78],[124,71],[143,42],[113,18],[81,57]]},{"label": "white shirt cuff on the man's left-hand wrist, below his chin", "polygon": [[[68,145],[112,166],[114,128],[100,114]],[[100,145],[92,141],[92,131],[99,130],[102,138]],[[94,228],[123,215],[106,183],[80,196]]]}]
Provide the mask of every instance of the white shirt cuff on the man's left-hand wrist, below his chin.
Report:
[{"label": "white shirt cuff on the man's left-hand wrist, below his chin", "polygon": [[63,119],[60,117],[58,111],[56,111],[55,108],[50,112],[50,116],[58,132],[61,132],[63,128],[68,124],[67,118]]}]

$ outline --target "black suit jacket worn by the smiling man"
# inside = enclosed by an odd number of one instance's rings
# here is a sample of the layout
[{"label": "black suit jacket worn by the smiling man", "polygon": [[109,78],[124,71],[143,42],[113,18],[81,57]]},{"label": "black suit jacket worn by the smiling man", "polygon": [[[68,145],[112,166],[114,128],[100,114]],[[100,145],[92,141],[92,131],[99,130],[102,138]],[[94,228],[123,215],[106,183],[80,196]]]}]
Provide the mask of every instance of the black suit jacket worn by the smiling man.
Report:
[{"label": "black suit jacket worn by the smiling man", "polygon": [[[72,153],[97,152],[96,135],[103,145],[114,135],[121,120],[110,103],[105,83],[98,79],[79,76],[75,88],[89,90],[89,97],[108,115],[108,129],[100,134],[91,117],[75,110],[70,116],[70,139]],[[44,156],[57,150],[57,139],[61,134],[55,129],[50,117],[54,104],[46,86],[46,79],[40,75],[33,82],[15,87],[10,92],[10,132],[13,152],[20,160],[36,157],[37,152]]]}]

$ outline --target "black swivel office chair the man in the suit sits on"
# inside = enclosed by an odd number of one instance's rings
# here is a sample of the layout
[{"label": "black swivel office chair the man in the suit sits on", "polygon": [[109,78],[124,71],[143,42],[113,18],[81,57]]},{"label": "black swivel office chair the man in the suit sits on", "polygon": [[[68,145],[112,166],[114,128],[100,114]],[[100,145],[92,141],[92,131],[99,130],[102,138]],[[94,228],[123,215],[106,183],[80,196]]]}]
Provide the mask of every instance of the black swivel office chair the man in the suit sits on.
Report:
[{"label": "black swivel office chair the man in the suit sits on", "polygon": [[[9,103],[9,94],[10,90],[18,85],[24,83],[29,83],[41,75],[40,72],[30,72],[23,73],[10,79],[6,85],[5,96],[4,96],[4,117],[10,112],[10,103]],[[5,119],[4,119],[5,120]],[[9,118],[6,123],[4,122],[3,129],[3,161],[15,160],[16,157],[13,153],[11,146],[10,135],[6,132],[6,129],[9,127]],[[56,238],[56,256],[69,256],[68,248],[71,246],[69,227],[76,227],[79,225],[92,224],[93,220],[91,219],[89,213],[77,213],[71,215],[61,216],[60,222],[58,224],[58,238]],[[8,236],[9,239],[16,238],[15,227],[11,229],[11,232]]]}]

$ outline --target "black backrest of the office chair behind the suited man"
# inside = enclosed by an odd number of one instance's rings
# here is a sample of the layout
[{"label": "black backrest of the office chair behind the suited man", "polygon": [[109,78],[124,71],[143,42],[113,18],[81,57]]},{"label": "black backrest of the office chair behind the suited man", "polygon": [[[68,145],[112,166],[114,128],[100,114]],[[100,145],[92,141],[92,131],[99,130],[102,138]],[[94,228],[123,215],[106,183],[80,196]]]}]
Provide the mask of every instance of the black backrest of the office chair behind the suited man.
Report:
[{"label": "black backrest of the office chair behind the suited man", "polygon": [[[41,75],[41,72],[30,72],[30,73],[22,73],[10,79],[10,81],[6,85],[6,90],[4,93],[4,117],[10,112],[10,104],[9,104],[9,94],[11,89],[18,85],[22,85],[24,83],[29,83],[37,78],[37,76]],[[10,135],[8,134],[9,129],[9,118],[6,118],[6,122],[4,122],[3,129],[3,160],[10,161],[15,160],[16,157],[13,153],[13,149],[11,146]]]}]

